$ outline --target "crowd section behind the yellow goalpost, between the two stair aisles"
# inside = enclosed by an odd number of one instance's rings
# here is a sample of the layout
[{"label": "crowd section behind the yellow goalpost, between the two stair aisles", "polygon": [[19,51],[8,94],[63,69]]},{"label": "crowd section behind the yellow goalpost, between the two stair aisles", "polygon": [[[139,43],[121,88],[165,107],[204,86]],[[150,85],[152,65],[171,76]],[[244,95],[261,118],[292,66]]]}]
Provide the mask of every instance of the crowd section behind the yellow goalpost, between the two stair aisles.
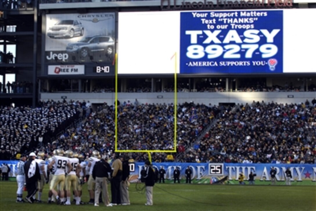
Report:
[{"label": "crowd section behind the yellow goalpost, between the two stair aisles", "polygon": [[[178,145],[190,146],[218,112],[194,103],[179,104]],[[94,150],[102,153],[114,152],[115,107],[104,103],[95,112],[86,115],[79,127],[71,127],[61,134],[53,144],[47,143],[36,151],[47,153],[54,149],[72,149],[88,156]],[[205,118],[207,117],[207,118]],[[139,104],[123,102],[118,108],[118,149],[120,150],[172,150],[173,149],[173,105]],[[134,160],[144,161],[143,153],[131,154]],[[166,155],[156,153],[153,159],[163,161]]]}]

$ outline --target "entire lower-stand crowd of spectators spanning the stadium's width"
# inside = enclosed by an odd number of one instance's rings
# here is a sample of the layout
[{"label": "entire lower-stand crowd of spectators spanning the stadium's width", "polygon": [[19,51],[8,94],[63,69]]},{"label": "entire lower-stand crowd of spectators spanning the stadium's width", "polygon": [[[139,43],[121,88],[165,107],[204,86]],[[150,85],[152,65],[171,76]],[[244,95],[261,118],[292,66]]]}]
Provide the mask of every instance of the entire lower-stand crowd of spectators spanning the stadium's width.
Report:
[{"label": "entire lower-stand crowd of spectators spanning the stadium's width", "polygon": [[[72,149],[84,156],[94,150],[114,152],[114,105],[104,103],[92,112],[90,102],[41,103],[36,109],[1,109],[1,150],[6,153],[2,157],[14,158],[27,150],[49,155],[57,148]],[[121,103],[118,149],[174,149],[173,115],[173,104],[141,104],[137,99],[134,103]],[[65,125],[79,117],[83,117],[79,126],[64,130]],[[216,119],[212,128],[196,142],[212,119]],[[193,102],[179,104],[176,147],[181,156],[177,161],[314,163],[315,119],[316,99],[301,104],[253,102],[227,108]],[[64,133],[51,143],[51,137],[62,130]],[[43,141],[39,141],[40,137]],[[147,159],[144,153],[129,156],[135,161]],[[153,154],[157,162],[174,159],[165,153]]]}]

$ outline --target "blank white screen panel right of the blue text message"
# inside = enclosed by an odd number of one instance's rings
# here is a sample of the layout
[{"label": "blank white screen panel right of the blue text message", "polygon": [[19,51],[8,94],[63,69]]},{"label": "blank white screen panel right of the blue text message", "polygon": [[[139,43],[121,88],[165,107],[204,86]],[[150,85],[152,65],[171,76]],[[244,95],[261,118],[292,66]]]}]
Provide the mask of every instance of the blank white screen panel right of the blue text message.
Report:
[{"label": "blank white screen panel right of the blue text message", "polygon": [[316,73],[316,9],[284,9],[283,20],[283,72]]}]

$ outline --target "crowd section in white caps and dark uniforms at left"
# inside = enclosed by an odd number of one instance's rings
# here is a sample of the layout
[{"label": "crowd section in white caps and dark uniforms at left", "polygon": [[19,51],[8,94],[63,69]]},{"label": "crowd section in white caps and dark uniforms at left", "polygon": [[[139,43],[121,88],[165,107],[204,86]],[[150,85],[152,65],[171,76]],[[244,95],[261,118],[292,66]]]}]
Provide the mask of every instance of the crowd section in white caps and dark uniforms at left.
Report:
[{"label": "crowd section in white caps and dark uniforms at left", "polygon": [[66,128],[79,117],[79,102],[41,102],[40,106],[0,107],[1,160],[15,158]]}]

